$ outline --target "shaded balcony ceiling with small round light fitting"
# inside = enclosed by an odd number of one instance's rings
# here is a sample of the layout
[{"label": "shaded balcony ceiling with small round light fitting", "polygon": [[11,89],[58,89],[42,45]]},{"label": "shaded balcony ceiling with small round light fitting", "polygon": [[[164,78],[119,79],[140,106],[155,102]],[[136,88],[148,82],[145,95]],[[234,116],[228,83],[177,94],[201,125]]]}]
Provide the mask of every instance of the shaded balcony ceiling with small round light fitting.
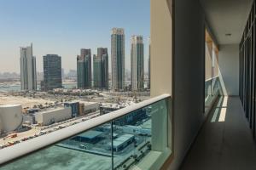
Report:
[{"label": "shaded balcony ceiling with small round light fitting", "polygon": [[252,3],[253,0],[201,0],[208,26],[218,44],[240,42]]}]

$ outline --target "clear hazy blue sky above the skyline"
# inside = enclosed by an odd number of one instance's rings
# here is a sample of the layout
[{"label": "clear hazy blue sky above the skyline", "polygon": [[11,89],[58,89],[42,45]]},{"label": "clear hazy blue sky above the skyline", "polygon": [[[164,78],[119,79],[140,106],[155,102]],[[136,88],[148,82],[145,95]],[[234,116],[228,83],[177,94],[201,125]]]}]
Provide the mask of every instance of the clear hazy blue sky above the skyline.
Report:
[{"label": "clear hazy blue sky above the skyline", "polygon": [[65,71],[76,70],[80,48],[108,48],[111,29],[125,29],[125,69],[131,70],[131,36],[144,38],[145,71],[150,35],[149,0],[0,0],[0,72],[20,72],[20,47],[33,43],[37,70],[43,56],[59,54]]}]

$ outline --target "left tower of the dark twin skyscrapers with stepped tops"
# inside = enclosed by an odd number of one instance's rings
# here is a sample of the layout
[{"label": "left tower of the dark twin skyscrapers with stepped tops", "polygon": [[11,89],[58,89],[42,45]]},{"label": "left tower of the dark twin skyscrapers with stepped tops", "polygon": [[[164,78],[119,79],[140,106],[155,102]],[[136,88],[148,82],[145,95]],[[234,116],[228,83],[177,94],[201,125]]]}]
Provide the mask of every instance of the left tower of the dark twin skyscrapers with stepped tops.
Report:
[{"label": "left tower of the dark twin skyscrapers with stepped tops", "polygon": [[91,53],[90,49],[81,49],[77,56],[78,88],[91,88]]}]

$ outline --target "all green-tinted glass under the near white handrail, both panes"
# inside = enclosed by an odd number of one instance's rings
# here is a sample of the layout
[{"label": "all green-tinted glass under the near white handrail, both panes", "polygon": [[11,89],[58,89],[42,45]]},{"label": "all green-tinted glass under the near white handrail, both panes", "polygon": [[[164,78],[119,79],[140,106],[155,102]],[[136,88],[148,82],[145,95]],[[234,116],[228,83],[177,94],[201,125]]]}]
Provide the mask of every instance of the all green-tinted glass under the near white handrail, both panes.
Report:
[{"label": "all green-tinted glass under the near white handrail, both panes", "polygon": [[[3,165],[1,170],[159,169],[170,156],[163,99]],[[111,114],[111,113],[109,113]],[[169,134],[169,135],[168,135]]]}]

